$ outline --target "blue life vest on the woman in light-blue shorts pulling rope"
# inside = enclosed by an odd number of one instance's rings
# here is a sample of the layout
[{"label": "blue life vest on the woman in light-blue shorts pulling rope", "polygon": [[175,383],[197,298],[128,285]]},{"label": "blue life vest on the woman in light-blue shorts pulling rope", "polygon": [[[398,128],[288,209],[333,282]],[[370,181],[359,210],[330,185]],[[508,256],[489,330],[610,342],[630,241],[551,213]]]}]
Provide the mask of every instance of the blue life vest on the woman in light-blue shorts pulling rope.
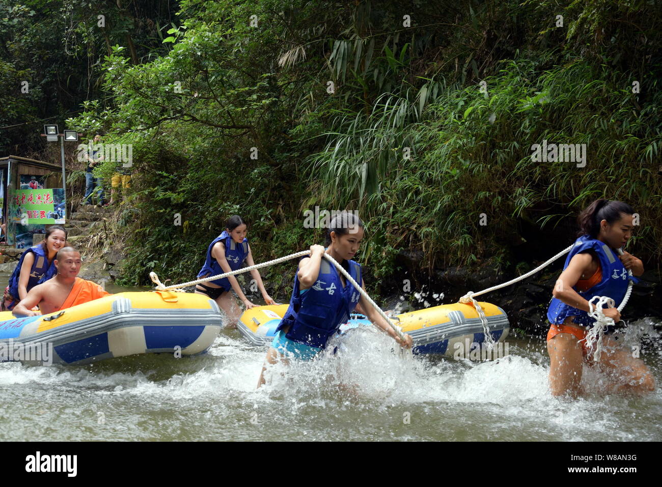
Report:
[{"label": "blue life vest on the woman in light-blue shorts pulling rope", "polygon": [[[361,284],[361,265],[348,262],[350,275]],[[304,294],[299,293],[299,276],[295,275],[289,308],[276,331],[289,326],[287,339],[323,349],[340,325],[348,322],[360,298],[352,283],[342,287],[338,271],[322,257],[317,280]]]}]

